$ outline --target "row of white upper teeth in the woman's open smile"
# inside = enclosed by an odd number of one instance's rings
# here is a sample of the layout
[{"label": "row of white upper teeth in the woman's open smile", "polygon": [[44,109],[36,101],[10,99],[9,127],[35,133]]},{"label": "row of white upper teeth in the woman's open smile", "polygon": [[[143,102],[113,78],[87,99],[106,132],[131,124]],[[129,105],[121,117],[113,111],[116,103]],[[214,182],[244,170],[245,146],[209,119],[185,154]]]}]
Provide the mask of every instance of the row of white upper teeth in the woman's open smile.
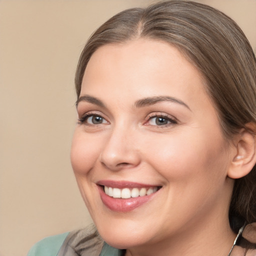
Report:
[{"label": "row of white upper teeth in the woman's open smile", "polygon": [[107,195],[114,197],[114,198],[130,198],[130,197],[138,197],[149,195],[157,191],[157,187],[149,187],[149,188],[116,188],[110,186],[104,186],[104,191]]}]

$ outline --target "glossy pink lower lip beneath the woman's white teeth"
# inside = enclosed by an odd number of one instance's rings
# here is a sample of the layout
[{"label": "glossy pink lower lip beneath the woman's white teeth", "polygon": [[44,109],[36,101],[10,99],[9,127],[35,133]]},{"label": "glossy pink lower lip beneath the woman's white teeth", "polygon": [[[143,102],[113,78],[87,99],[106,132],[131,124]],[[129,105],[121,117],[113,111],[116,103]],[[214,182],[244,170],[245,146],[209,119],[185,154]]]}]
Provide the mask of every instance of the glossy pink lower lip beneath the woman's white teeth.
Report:
[{"label": "glossy pink lower lip beneath the woman's white teeth", "polygon": [[104,205],[107,206],[110,210],[120,211],[120,212],[131,211],[141,206],[142,204],[148,202],[152,198],[152,196],[154,196],[155,193],[157,192],[156,191],[149,195],[138,196],[134,198],[130,197],[130,198],[124,199],[124,198],[113,198],[111,196],[108,196],[107,194],[105,194],[101,186],[99,186],[98,188],[99,188],[100,198],[104,203]]}]

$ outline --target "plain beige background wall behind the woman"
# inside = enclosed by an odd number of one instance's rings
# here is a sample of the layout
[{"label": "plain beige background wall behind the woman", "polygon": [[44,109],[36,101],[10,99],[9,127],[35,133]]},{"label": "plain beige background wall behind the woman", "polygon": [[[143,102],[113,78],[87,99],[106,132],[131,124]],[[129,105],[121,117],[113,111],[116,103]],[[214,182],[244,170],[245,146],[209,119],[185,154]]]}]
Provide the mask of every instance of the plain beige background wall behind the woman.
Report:
[{"label": "plain beige background wall behind the woman", "polygon": [[[152,0],[0,0],[0,256],[88,224],[69,163],[73,76],[89,34]],[[256,48],[256,0],[201,0]]]}]

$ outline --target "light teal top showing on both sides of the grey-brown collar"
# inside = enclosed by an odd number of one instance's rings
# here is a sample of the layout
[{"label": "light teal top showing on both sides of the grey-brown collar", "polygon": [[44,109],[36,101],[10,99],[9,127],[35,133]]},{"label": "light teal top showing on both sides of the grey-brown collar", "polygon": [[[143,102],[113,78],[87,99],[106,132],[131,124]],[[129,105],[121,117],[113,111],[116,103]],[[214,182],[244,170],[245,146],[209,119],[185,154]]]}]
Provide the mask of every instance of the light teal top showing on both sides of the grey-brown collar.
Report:
[{"label": "light teal top showing on both sides of the grey-brown collar", "polygon": [[[57,256],[58,251],[68,234],[69,232],[66,232],[43,238],[33,245],[27,256]],[[104,242],[99,256],[120,256],[121,254],[121,250],[113,248]]]}]

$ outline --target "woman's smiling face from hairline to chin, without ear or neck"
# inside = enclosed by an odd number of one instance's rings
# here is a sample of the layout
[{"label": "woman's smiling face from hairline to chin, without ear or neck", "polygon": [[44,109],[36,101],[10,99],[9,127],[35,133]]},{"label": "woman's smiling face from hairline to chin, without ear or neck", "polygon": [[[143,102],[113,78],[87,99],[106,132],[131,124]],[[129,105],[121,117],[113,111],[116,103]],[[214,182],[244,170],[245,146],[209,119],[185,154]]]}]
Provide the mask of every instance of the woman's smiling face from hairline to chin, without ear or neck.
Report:
[{"label": "woman's smiling face from hairline to chin, without ear or neck", "polygon": [[232,149],[200,73],[175,47],[143,39],[101,46],[77,112],[71,163],[110,245],[157,243],[227,221]]}]

